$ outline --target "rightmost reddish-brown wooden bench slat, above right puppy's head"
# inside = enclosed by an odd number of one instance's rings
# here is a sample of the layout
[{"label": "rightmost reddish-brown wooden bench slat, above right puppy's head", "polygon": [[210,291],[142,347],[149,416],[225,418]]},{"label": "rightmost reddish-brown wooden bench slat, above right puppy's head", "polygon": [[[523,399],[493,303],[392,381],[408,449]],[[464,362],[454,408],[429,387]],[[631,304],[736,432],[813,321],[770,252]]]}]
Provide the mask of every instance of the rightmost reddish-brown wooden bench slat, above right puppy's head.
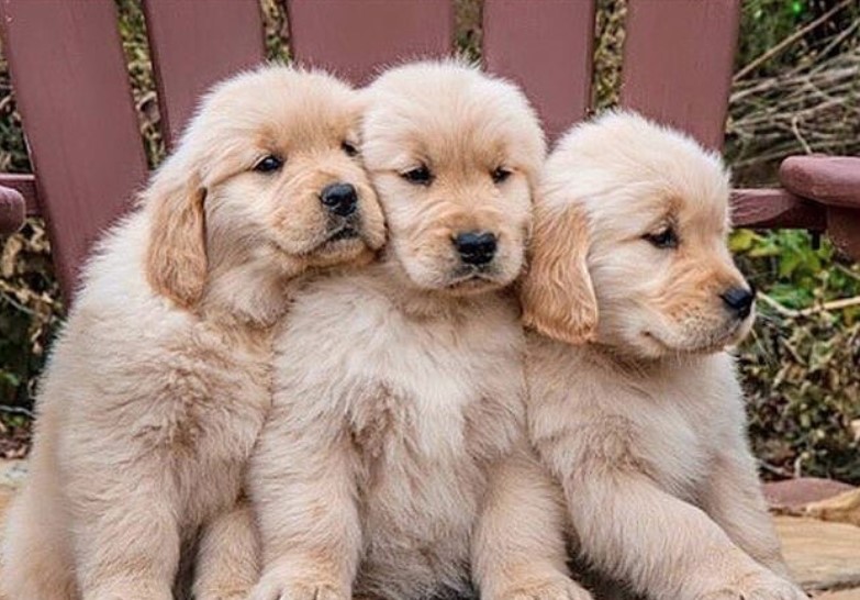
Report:
[{"label": "rightmost reddish-brown wooden bench slat, above right puppy's head", "polygon": [[740,0],[629,0],[621,103],[723,145]]}]

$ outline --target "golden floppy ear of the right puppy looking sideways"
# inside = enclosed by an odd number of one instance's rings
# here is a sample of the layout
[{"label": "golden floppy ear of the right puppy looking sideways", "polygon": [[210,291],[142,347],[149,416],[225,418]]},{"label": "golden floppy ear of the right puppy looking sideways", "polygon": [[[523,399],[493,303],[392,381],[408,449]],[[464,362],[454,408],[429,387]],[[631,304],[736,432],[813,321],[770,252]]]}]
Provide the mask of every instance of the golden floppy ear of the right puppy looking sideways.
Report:
[{"label": "golden floppy ear of the right puppy looking sideways", "polygon": [[535,207],[530,260],[520,288],[526,326],[568,344],[594,338],[597,300],[588,252],[588,218],[580,207]]}]

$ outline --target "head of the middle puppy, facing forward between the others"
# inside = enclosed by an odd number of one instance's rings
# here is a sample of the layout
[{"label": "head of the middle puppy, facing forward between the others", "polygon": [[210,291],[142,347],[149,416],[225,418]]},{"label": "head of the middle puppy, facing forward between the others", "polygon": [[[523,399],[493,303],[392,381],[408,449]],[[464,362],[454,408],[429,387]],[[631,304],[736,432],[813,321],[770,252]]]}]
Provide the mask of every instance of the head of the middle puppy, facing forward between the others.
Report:
[{"label": "head of the middle puppy, facing forward between the others", "polygon": [[524,95],[455,63],[394,68],[367,91],[362,155],[413,286],[511,284],[523,264],[545,146]]}]

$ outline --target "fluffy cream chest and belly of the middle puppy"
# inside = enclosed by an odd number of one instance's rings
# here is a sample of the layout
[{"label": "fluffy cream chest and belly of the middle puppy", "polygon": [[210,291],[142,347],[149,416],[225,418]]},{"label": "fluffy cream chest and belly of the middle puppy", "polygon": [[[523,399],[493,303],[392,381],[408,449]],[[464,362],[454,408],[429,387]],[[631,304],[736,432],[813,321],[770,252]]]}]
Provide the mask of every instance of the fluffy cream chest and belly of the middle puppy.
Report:
[{"label": "fluffy cream chest and belly of the middle puppy", "polygon": [[373,357],[347,411],[366,514],[417,537],[423,521],[428,536],[469,529],[488,464],[523,426],[515,352],[424,333]]}]

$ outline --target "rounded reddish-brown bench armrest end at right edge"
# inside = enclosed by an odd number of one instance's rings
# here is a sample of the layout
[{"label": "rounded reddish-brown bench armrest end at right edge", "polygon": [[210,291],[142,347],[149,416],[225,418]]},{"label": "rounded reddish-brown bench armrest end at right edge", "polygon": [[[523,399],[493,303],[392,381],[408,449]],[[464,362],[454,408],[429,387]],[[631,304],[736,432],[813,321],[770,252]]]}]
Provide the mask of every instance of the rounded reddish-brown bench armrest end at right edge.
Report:
[{"label": "rounded reddish-brown bench armrest end at right edge", "polygon": [[780,182],[827,207],[860,210],[860,158],[791,156],[780,165]]}]

